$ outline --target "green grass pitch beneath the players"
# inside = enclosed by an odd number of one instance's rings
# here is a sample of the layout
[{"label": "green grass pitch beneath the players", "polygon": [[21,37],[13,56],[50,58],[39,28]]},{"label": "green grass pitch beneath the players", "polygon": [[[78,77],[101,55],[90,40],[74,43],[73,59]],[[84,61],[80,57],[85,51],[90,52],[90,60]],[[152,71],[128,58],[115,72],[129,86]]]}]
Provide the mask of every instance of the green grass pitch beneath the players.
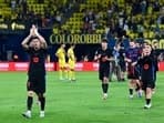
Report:
[{"label": "green grass pitch beneath the players", "polygon": [[110,84],[103,101],[96,72],[79,72],[76,83],[61,82],[58,73],[48,73],[45,117],[39,117],[33,104],[32,119],[25,111],[25,72],[0,72],[0,123],[162,123],[164,122],[164,73],[157,75],[153,106],[143,110],[144,98],[127,98],[127,82]]}]

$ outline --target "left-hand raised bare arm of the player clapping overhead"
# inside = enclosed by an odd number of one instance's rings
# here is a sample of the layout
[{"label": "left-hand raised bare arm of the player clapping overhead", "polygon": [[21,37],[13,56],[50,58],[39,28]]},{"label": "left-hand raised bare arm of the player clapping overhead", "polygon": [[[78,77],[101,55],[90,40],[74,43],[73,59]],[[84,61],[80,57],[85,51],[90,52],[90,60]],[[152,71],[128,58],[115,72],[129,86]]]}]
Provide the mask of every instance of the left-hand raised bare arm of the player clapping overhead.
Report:
[{"label": "left-hand raised bare arm of the player clapping overhead", "polygon": [[30,34],[22,41],[21,45],[24,48],[24,49],[29,49],[29,41],[30,39],[34,35],[34,31],[33,31],[33,28],[30,29]]}]

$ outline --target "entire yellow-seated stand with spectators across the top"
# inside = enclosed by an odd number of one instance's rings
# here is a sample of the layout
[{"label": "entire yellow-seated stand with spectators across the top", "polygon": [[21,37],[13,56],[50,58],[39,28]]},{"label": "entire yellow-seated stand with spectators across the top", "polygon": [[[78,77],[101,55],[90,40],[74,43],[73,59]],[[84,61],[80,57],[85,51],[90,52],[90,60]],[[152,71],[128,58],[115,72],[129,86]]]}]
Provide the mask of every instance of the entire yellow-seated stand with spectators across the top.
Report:
[{"label": "entire yellow-seated stand with spectators across the top", "polygon": [[1,23],[30,20],[53,33],[163,37],[163,0],[0,0]]}]

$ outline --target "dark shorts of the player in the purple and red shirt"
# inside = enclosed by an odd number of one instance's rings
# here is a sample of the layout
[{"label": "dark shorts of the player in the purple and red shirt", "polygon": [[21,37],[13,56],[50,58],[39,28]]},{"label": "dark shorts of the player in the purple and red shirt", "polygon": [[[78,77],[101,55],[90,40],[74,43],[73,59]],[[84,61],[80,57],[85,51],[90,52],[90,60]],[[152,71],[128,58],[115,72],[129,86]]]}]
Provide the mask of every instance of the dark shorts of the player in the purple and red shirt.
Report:
[{"label": "dark shorts of the player in the purple and red shirt", "polygon": [[127,79],[137,80],[140,78],[140,72],[136,66],[127,64]]}]

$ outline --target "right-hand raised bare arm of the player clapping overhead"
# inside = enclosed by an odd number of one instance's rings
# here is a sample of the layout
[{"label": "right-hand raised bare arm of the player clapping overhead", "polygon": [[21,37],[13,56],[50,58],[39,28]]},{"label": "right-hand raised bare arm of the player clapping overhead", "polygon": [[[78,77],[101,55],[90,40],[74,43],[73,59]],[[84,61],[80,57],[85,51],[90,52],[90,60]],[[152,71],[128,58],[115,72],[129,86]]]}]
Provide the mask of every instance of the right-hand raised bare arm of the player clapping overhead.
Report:
[{"label": "right-hand raised bare arm of the player clapping overhead", "polygon": [[47,49],[48,44],[45,39],[38,32],[38,29],[35,28],[35,25],[32,25],[33,30],[34,30],[34,34],[39,38],[40,42],[41,42],[41,48],[42,49]]}]

